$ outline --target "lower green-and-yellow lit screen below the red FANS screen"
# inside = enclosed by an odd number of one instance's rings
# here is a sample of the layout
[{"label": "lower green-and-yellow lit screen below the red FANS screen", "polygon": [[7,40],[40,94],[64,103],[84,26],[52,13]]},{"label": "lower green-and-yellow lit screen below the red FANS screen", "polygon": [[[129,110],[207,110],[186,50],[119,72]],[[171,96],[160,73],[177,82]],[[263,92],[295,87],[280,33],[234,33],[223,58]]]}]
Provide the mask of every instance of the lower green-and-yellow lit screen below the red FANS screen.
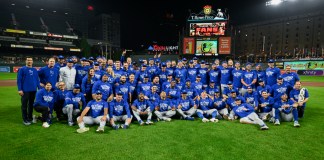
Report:
[{"label": "lower green-and-yellow lit screen below the red FANS screen", "polygon": [[197,56],[217,56],[217,39],[197,39],[196,55]]}]

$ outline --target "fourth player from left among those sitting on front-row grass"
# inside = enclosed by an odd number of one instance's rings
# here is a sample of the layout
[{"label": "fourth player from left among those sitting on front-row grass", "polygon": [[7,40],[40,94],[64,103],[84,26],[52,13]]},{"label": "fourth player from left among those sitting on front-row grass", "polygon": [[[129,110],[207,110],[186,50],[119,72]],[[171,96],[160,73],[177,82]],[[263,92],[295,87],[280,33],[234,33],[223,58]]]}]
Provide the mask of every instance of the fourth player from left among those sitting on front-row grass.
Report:
[{"label": "fourth player from left among those sitting on front-row grass", "polygon": [[166,93],[161,92],[160,99],[155,103],[155,115],[164,121],[171,121],[171,117],[176,114],[174,104],[170,99],[166,98]]}]

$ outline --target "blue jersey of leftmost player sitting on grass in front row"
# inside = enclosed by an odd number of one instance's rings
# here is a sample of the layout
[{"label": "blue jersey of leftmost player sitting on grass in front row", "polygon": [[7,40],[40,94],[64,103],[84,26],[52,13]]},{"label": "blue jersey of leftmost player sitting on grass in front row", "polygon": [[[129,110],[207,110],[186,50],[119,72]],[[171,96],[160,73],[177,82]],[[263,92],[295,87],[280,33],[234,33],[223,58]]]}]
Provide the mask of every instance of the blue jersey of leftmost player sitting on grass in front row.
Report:
[{"label": "blue jersey of leftmost player sitting on grass in front row", "polygon": [[90,115],[92,118],[97,118],[98,116],[104,115],[104,109],[108,109],[108,103],[104,100],[97,102],[96,100],[92,100],[87,104],[86,108],[90,108]]}]

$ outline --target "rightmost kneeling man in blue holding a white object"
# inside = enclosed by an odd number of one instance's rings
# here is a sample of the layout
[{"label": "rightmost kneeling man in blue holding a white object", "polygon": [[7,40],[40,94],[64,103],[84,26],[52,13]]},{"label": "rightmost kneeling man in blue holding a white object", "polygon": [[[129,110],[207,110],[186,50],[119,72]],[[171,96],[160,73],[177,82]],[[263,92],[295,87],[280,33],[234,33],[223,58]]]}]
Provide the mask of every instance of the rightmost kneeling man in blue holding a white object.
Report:
[{"label": "rightmost kneeling man in blue holding a white object", "polygon": [[300,81],[296,81],[294,89],[290,91],[289,97],[292,101],[298,103],[298,116],[299,118],[303,118],[306,102],[309,99],[308,90],[306,88],[302,88]]}]

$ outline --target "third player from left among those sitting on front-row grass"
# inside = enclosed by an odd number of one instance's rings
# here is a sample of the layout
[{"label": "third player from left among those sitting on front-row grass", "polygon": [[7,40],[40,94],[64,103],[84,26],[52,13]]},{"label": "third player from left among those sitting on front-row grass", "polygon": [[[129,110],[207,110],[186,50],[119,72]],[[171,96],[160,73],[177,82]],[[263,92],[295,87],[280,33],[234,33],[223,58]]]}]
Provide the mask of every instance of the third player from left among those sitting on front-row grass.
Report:
[{"label": "third player from left among those sitting on front-row grass", "polygon": [[132,104],[132,110],[135,118],[141,126],[144,125],[141,116],[147,116],[146,124],[153,124],[151,121],[153,106],[149,100],[144,98],[143,92],[140,92],[138,99],[136,99]]}]

